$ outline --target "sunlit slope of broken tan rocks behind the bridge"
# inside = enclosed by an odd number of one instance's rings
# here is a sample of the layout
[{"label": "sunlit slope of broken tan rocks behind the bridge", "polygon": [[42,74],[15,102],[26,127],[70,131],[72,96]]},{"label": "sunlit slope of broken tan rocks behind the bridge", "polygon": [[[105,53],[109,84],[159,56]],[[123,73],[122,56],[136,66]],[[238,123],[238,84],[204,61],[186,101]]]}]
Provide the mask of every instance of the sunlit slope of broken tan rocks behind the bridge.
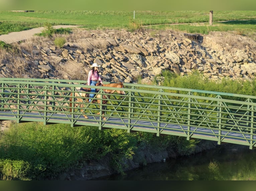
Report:
[{"label": "sunlit slope of broken tan rocks behind the bridge", "polygon": [[[148,83],[163,70],[182,76],[200,71],[213,80],[250,80],[256,74],[255,41],[230,33],[77,29],[66,39],[62,48],[47,39],[30,52],[22,50],[22,77],[86,80],[93,63],[102,66],[100,75],[108,82]],[[16,77],[4,62],[0,70],[2,77]]]}]

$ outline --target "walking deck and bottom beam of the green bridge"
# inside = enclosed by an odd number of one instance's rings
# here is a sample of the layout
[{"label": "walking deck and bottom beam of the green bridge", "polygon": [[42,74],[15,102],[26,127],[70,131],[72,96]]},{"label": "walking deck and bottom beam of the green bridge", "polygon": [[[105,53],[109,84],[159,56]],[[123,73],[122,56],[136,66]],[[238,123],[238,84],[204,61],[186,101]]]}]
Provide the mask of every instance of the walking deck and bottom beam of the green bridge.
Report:
[{"label": "walking deck and bottom beam of the green bridge", "polygon": [[[126,119],[126,118],[117,118],[117,117],[107,117],[107,120],[101,120],[100,116],[88,116],[88,119],[85,119],[83,115],[74,115],[71,114],[58,114],[58,113],[38,113],[38,112],[29,112],[26,113],[15,113],[11,111],[1,111],[0,118],[1,120],[16,120],[17,122],[44,122],[45,124],[52,123],[66,123],[73,124],[74,126],[97,126],[100,129],[104,128],[118,128],[125,129],[128,132],[134,131],[144,131],[144,132],[153,132],[166,135],[176,135],[189,137],[188,139],[199,138],[206,140],[218,141],[219,143],[235,143],[242,145],[249,145],[250,139],[254,142],[256,140],[256,135],[250,133],[246,134],[239,131],[225,131],[218,130],[213,128],[200,128],[190,126],[181,126],[176,124],[168,123],[158,123],[145,120],[135,120],[135,119]],[[22,116],[20,116],[22,115]],[[220,136],[221,135],[221,136]],[[221,142],[220,142],[221,141]],[[255,144],[253,144],[255,147]]]}]

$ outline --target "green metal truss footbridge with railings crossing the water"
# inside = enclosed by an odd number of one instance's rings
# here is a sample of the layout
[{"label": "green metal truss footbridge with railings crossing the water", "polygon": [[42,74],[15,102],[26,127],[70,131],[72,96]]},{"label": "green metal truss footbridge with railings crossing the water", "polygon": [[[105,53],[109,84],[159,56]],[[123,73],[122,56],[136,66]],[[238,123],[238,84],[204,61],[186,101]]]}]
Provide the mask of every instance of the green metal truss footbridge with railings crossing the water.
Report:
[{"label": "green metal truss footbridge with railings crossing the water", "polygon": [[[88,87],[84,83],[0,78],[0,120],[118,128],[128,133],[145,131],[157,136],[175,135],[187,140],[206,139],[218,144],[256,147],[256,96],[124,84],[126,95],[113,94],[109,98],[102,96],[106,87],[97,87],[101,103],[84,102],[84,110],[81,110],[76,107],[76,97],[71,93],[74,95],[79,88]],[[105,109],[102,107],[104,99],[108,99]],[[103,120],[103,112],[107,120]]]}]

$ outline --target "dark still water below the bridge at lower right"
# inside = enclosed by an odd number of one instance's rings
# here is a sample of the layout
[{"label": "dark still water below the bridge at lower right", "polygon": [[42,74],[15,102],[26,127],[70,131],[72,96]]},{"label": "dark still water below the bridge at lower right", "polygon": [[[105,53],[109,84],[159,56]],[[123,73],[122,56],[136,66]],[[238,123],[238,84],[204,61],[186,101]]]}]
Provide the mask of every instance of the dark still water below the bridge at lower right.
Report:
[{"label": "dark still water below the bridge at lower right", "polygon": [[221,145],[97,180],[256,180],[255,159],[256,150],[248,146]]}]

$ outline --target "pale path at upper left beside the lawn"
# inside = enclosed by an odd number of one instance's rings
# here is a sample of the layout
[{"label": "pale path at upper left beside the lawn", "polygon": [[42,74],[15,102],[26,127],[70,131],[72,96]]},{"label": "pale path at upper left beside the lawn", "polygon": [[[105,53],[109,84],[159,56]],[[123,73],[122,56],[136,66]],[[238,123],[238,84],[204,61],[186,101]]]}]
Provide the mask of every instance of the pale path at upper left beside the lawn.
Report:
[{"label": "pale path at upper left beside the lawn", "polygon": [[[72,27],[81,27],[78,25],[55,25],[53,26],[54,29],[59,28],[72,28]],[[19,42],[23,40],[27,40],[29,38],[32,38],[34,34],[41,33],[44,30],[44,27],[34,28],[26,31],[20,31],[20,32],[11,32],[7,35],[0,35],[0,41],[3,41],[7,44]]]}]

